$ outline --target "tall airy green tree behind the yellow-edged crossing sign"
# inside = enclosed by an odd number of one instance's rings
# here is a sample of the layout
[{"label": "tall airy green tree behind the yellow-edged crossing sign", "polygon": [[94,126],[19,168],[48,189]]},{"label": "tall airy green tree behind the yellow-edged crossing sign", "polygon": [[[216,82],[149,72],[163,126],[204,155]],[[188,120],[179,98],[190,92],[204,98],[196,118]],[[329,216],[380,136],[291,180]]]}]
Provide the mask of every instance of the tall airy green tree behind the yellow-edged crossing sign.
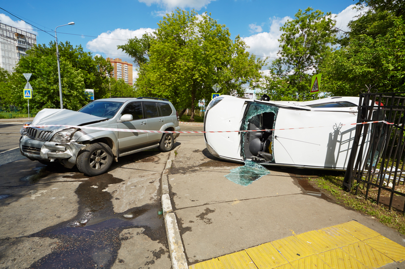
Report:
[{"label": "tall airy green tree behind the yellow-edged crossing sign", "polygon": [[[331,13],[307,8],[280,28],[278,58],[269,66],[264,92],[274,100],[308,100],[312,74],[336,43],[335,20]],[[277,83],[274,83],[276,81]]]}]

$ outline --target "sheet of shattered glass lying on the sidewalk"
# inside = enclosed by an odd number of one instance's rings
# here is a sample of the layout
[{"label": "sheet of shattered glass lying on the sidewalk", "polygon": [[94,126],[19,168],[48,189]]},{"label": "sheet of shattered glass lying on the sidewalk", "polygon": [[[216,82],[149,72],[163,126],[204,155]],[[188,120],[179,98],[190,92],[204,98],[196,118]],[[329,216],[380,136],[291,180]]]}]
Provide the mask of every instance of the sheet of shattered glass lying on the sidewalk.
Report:
[{"label": "sheet of shattered glass lying on the sidewalk", "polygon": [[231,173],[224,177],[241,186],[248,186],[255,180],[270,174],[270,171],[252,160],[245,160],[245,166],[234,168],[230,172]]}]

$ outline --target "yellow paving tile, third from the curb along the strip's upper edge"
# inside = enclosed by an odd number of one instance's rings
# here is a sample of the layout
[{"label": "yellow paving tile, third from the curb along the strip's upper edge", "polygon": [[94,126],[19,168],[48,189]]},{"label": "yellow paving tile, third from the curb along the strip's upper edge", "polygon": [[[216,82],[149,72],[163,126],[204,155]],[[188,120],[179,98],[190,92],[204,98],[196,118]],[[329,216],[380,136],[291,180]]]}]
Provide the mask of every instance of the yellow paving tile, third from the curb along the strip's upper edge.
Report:
[{"label": "yellow paving tile, third from the curb along the strip's upper edge", "polygon": [[271,243],[248,248],[246,253],[248,253],[259,269],[271,269],[288,263],[286,258],[284,258]]}]

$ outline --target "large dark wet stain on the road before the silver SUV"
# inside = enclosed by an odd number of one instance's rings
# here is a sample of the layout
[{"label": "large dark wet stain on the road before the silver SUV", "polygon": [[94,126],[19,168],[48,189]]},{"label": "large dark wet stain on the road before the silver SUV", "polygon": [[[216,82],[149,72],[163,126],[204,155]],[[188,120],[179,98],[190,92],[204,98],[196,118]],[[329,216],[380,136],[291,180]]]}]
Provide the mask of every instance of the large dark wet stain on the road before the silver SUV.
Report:
[{"label": "large dark wet stain on the road before the silver SUV", "polygon": [[[86,177],[76,174],[64,178],[80,180]],[[130,232],[120,235],[130,228],[143,228],[142,234],[168,248],[164,221],[157,214],[161,210],[158,202],[115,213],[112,195],[105,190],[108,185],[123,182],[122,179],[103,174],[80,182],[75,191],[79,198],[76,217],[29,236],[59,240],[52,253],[32,263],[29,268],[110,268],[121,243],[133,238]],[[166,250],[161,248],[153,256],[158,258],[165,253]]]}]

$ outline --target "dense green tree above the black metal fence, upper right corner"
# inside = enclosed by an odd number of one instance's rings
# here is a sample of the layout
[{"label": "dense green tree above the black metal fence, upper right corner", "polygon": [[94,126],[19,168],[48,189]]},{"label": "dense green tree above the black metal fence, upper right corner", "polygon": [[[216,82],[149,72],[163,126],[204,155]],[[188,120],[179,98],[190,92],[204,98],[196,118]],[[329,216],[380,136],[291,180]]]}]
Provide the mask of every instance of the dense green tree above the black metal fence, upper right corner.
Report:
[{"label": "dense green tree above the black metal fence, upper right corner", "polygon": [[321,65],[323,88],[333,95],[358,95],[365,85],[380,92],[405,91],[403,1],[367,0],[365,15],[349,23],[340,49]]}]

